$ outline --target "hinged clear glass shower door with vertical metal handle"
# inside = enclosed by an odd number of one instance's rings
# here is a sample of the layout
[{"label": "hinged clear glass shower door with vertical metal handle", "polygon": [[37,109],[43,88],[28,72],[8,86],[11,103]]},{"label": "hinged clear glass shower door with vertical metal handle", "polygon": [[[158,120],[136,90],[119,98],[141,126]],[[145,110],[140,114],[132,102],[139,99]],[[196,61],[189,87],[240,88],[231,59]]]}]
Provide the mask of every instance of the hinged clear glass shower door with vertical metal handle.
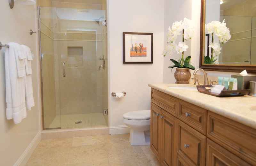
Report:
[{"label": "hinged clear glass shower door with vertical metal handle", "polygon": [[[59,123],[61,128],[108,124],[103,115],[103,109],[108,108],[107,31],[101,26],[105,12],[52,8],[53,41],[49,45],[54,55],[55,100],[60,110],[52,124]],[[103,56],[105,69],[99,68]]]}]

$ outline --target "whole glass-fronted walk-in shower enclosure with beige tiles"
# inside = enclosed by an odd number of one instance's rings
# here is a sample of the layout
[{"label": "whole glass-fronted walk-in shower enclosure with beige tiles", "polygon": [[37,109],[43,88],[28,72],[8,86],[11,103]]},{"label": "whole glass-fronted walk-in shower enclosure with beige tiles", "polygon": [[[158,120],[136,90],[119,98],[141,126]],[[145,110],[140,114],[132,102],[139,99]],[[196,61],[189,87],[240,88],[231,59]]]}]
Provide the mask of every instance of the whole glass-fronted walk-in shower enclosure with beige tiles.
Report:
[{"label": "whole glass-fronted walk-in shower enclosure with beige tiles", "polygon": [[44,129],[107,125],[106,10],[38,7],[38,16]]}]

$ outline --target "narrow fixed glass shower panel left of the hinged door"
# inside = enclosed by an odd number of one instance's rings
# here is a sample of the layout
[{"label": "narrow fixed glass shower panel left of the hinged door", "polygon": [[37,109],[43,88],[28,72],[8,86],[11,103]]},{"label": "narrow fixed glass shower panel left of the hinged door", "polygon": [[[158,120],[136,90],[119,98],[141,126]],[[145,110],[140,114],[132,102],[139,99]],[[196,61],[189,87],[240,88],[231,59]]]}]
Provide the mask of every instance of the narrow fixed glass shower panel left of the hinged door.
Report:
[{"label": "narrow fixed glass shower panel left of the hinged door", "polygon": [[55,74],[53,13],[56,8],[39,8],[40,60],[44,128],[60,128],[60,93]]}]

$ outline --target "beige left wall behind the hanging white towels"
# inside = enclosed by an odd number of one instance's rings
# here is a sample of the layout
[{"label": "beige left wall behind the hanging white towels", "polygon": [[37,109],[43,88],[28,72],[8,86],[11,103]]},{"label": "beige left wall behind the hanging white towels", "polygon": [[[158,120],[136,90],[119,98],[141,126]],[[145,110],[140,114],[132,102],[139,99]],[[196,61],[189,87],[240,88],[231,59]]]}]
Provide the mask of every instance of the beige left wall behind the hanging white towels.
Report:
[{"label": "beige left wall behind the hanging white towels", "polygon": [[[12,166],[21,157],[40,132],[38,90],[40,78],[38,77],[39,59],[37,56],[36,34],[30,35],[29,29],[36,30],[36,8],[35,5],[22,5],[15,3],[10,9],[8,1],[0,1],[0,41],[3,44],[17,42],[27,45],[34,55],[32,60],[32,82],[34,91],[35,107],[27,111],[27,117],[19,124],[13,120],[7,120],[5,109],[5,69],[4,69],[4,48],[0,50],[0,165]],[[41,139],[41,137],[40,137]],[[37,144],[36,144],[37,145]],[[33,152],[34,149],[32,149]],[[20,165],[25,165],[25,161]],[[24,163],[25,162],[25,163]]]}]

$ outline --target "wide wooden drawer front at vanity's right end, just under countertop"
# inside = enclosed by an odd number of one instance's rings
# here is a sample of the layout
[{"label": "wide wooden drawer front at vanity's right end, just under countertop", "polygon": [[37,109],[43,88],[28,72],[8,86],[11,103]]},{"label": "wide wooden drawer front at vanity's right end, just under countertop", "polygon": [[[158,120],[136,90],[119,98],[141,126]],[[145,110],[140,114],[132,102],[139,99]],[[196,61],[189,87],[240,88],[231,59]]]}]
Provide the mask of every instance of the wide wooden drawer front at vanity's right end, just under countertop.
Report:
[{"label": "wide wooden drawer front at vanity's right end, just under countertop", "polygon": [[256,130],[208,112],[207,137],[252,165],[256,165]]}]

